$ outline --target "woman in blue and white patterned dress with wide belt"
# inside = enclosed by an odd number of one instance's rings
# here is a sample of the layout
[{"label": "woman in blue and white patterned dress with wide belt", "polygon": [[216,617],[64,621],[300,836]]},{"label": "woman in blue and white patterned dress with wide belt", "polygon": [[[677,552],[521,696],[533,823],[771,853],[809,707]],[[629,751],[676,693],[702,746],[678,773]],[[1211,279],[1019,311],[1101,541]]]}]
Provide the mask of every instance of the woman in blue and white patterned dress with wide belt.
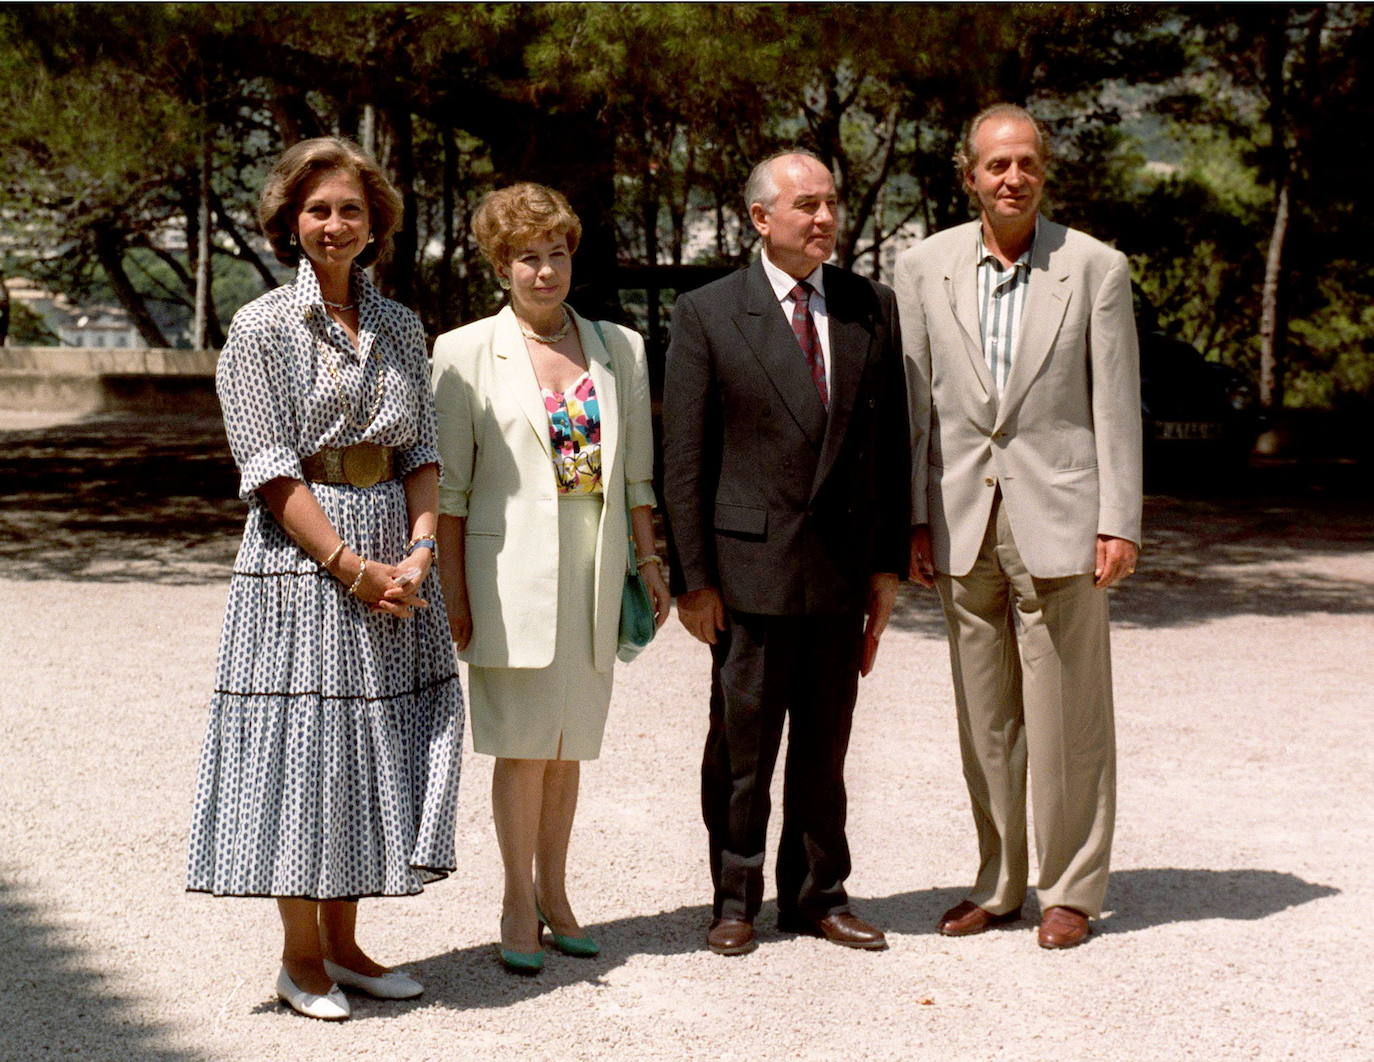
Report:
[{"label": "woman in blue and white patterned dress with wide belt", "polygon": [[286,151],[258,220],[293,283],[243,306],[216,386],[249,503],[201,757],[187,888],[272,896],[278,995],[420,985],[359,947],[357,900],[455,863],[462,690],[434,562],[438,449],[419,319],[360,267],[401,201],[335,137]]}]

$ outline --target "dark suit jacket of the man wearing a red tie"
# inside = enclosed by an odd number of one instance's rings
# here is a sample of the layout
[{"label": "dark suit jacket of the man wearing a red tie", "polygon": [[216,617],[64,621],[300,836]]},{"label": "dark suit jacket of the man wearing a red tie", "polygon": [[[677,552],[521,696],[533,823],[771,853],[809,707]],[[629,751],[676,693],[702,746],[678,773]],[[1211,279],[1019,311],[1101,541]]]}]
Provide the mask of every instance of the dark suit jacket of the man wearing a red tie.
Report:
[{"label": "dark suit jacket of the man wearing a red tie", "polygon": [[863,607],[907,570],[911,441],[892,290],[824,267],[830,409],[763,262],[682,295],[664,382],[675,589],[764,615]]}]

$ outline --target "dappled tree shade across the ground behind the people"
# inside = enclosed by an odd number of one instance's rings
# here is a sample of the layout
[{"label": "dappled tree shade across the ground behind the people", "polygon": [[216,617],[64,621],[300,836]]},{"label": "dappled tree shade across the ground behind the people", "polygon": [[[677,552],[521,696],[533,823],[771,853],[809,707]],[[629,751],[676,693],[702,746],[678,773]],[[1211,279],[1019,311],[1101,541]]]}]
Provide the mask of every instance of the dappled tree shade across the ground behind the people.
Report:
[{"label": "dappled tree shade across the ground behind the people", "polygon": [[[1117,624],[1374,611],[1374,585],[1312,561],[1374,550],[1359,470],[1256,468],[1230,496],[1151,495],[1139,572],[1113,591]],[[19,578],[214,583],[245,507],[217,418],[98,415],[0,430],[0,563]],[[1300,570],[1301,569],[1301,570]],[[893,624],[934,637],[933,591],[904,585]]]}]

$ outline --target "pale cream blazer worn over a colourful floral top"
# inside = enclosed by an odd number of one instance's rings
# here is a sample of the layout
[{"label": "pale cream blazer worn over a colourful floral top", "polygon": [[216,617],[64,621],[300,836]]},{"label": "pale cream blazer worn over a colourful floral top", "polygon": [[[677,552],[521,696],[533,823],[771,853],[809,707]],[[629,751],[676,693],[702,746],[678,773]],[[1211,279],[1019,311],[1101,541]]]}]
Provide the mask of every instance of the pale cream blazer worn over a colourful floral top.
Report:
[{"label": "pale cream blazer worn over a colourful floral top", "polygon": [[[639,334],[574,313],[602,414],[602,507],[596,541],[598,670],[610,670],[628,551],[627,499],[654,504],[649,371]],[[609,349],[607,349],[609,348]],[[547,668],[558,614],[558,481],[548,414],[515,315],[507,306],[434,343],[434,407],[444,459],[438,511],[467,518],[466,576],[481,668]]]}]

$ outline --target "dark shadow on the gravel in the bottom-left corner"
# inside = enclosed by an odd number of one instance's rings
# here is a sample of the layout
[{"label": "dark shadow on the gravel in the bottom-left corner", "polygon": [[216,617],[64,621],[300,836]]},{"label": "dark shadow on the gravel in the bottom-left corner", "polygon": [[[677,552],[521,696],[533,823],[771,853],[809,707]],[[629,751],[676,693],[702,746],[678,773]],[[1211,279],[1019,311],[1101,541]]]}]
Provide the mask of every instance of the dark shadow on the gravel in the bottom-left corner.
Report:
[{"label": "dark shadow on the gravel in the bottom-left corner", "polygon": [[140,1022],[115,978],[93,971],[43,908],[0,881],[4,949],[3,1058],[73,1057],[198,1062],[166,1047],[166,1029]]}]

